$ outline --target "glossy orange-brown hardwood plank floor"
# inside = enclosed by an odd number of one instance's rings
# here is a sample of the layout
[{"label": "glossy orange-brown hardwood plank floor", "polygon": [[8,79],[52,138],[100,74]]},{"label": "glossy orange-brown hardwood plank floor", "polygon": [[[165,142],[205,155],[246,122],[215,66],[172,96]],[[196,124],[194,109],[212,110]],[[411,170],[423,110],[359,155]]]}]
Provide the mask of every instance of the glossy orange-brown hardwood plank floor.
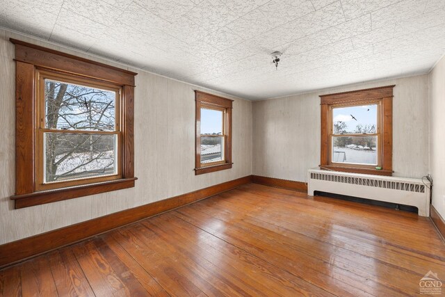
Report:
[{"label": "glossy orange-brown hardwood plank floor", "polygon": [[428,271],[428,218],[248,184],[3,269],[0,296],[416,296]]}]

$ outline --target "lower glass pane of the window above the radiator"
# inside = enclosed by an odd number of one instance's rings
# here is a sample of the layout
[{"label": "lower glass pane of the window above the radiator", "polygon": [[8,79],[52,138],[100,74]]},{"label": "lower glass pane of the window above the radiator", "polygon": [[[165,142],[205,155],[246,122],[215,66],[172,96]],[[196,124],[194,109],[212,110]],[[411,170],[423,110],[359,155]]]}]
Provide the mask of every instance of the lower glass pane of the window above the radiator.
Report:
[{"label": "lower glass pane of the window above the radiator", "polygon": [[332,162],[377,166],[377,136],[332,136]]}]

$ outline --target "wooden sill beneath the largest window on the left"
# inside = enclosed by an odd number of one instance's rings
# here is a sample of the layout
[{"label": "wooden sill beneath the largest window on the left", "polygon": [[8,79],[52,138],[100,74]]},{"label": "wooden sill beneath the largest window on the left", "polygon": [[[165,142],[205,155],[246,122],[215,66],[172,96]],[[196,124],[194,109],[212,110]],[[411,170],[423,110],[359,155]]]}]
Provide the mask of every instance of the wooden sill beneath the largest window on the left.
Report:
[{"label": "wooden sill beneath the largest window on the left", "polygon": [[15,202],[15,209],[32,207],[56,201],[73,199],[88,195],[121,190],[122,188],[133,188],[137,177],[128,179],[117,179],[111,182],[100,182],[96,184],[86,184],[82,186],[71,186],[68,188],[58,188],[55,190],[38,191],[24,195],[14,195],[10,199]]}]

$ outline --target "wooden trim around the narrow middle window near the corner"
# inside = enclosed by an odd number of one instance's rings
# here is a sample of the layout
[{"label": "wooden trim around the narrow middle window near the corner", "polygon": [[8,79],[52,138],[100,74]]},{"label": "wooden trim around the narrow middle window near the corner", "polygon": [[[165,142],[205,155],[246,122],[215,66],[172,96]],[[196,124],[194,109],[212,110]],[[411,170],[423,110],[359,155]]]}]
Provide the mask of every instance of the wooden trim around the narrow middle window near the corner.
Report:
[{"label": "wooden trim around the narrow middle window near the corner", "polygon": [[[195,175],[232,168],[232,102],[234,100],[195,90]],[[201,108],[219,109],[225,113],[225,160],[208,164],[201,163]]]}]

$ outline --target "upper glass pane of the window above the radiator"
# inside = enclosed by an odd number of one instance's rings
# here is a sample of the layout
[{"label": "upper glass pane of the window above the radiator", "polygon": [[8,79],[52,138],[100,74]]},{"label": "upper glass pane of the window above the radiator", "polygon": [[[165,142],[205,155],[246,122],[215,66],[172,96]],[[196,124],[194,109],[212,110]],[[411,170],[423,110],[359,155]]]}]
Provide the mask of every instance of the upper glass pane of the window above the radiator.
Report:
[{"label": "upper glass pane of the window above the radiator", "polygon": [[334,134],[376,133],[377,104],[338,107],[332,110]]}]

